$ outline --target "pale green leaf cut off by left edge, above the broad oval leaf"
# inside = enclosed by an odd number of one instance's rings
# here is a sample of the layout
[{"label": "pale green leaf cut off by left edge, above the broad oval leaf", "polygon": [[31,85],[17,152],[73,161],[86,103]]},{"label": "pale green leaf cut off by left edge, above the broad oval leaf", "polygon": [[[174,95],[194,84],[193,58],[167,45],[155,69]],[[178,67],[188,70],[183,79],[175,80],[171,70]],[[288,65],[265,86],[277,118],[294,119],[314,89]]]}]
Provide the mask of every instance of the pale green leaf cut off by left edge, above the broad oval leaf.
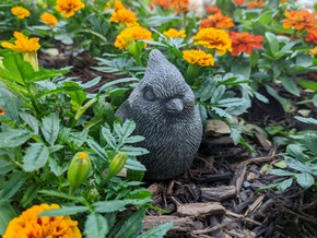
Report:
[{"label": "pale green leaf cut off by left edge, above the broad oval leaf", "polygon": [[31,138],[32,133],[26,129],[9,129],[0,133],[0,148],[17,147]]}]

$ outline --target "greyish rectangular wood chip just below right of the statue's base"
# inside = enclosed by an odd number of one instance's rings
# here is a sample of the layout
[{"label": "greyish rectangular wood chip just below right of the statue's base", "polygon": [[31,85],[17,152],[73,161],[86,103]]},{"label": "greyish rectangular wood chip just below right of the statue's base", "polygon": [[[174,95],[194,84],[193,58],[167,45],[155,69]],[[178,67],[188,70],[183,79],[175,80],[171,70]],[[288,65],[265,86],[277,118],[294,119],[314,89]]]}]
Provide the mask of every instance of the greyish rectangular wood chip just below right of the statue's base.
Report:
[{"label": "greyish rectangular wood chip just below right of the statue's base", "polygon": [[203,202],[211,201],[223,201],[228,198],[235,197],[236,188],[235,186],[223,186],[218,188],[201,188],[201,200]]}]

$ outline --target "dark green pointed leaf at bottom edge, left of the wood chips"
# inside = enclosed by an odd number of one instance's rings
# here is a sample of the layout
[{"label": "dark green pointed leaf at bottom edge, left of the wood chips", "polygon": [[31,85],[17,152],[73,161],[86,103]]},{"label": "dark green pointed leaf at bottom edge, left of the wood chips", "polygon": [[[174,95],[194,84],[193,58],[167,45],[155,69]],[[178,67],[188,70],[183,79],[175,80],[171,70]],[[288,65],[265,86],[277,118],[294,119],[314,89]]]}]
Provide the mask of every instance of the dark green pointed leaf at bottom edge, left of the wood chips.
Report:
[{"label": "dark green pointed leaf at bottom edge, left of the wood chips", "polygon": [[145,215],[145,212],[146,212],[146,209],[141,207],[140,210],[138,210],[137,213],[130,216],[121,226],[119,231],[116,234],[115,238],[136,237],[143,227],[142,221]]}]

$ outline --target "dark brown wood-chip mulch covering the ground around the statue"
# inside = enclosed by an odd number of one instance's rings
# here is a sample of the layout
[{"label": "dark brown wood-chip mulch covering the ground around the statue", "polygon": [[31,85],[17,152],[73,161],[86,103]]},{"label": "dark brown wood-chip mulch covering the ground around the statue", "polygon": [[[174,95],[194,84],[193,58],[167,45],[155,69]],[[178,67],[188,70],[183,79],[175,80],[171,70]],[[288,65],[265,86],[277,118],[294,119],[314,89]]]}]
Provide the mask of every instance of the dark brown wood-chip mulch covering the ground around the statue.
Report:
[{"label": "dark brown wood-chip mulch covering the ground around the statue", "polygon": [[[59,57],[40,53],[39,57],[40,64],[46,68],[72,66],[68,76],[77,76],[82,82],[103,76],[91,93],[117,79],[92,70],[97,62],[86,52]],[[301,93],[305,95],[305,92]],[[269,105],[254,100],[248,114],[240,119],[260,128],[281,124],[286,130],[307,129],[295,122],[295,114],[285,114],[278,102],[269,99]],[[278,154],[284,148],[270,145],[256,130],[246,140],[255,153],[234,145],[228,134],[207,131],[187,172],[173,180],[146,182],[146,188],[153,192],[152,204],[169,213],[150,210],[144,218],[144,229],[174,222],[167,237],[317,237],[314,191],[293,183],[283,193],[277,190],[257,192],[261,187],[282,180],[261,168],[265,165],[271,168],[273,163],[282,159]]]}]

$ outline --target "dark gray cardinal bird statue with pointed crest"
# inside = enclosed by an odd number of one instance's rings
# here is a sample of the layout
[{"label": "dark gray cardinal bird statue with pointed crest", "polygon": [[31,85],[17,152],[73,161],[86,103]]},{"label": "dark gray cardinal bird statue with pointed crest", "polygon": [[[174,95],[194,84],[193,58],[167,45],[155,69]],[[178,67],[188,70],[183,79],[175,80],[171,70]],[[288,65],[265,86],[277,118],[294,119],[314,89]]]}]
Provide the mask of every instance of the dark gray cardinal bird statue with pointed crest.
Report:
[{"label": "dark gray cardinal bird statue with pointed crest", "polygon": [[200,115],[191,88],[160,50],[151,51],[144,78],[116,114],[132,119],[134,134],[145,138],[138,145],[150,151],[139,157],[146,179],[169,179],[190,166],[202,135]]}]

